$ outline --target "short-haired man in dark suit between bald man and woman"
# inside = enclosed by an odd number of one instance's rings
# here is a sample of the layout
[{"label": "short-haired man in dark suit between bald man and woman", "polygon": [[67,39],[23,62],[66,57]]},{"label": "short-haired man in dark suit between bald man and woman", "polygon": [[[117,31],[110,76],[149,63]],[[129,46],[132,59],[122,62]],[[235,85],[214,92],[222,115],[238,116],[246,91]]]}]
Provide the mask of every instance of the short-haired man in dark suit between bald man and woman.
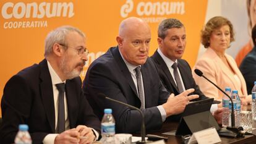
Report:
[{"label": "short-haired man in dark suit between bald man and woman", "polygon": [[[199,95],[199,100],[207,98],[195,83],[189,63],[181,59],[186,48],[186,30],[179,20],[166,19],[160,23],[158,27],[158,46],[159,48],[156,49],[151,59],[156,64],[158,75],[164,87],[174,95],[179,95],[184,90],[194,88],[195,91],[192,94]],[[221,109],[218,109],[215,112],[218,123],[221,123],[221,111]],[[173,116],[172,118],[178,121],[180,116]]]}]

